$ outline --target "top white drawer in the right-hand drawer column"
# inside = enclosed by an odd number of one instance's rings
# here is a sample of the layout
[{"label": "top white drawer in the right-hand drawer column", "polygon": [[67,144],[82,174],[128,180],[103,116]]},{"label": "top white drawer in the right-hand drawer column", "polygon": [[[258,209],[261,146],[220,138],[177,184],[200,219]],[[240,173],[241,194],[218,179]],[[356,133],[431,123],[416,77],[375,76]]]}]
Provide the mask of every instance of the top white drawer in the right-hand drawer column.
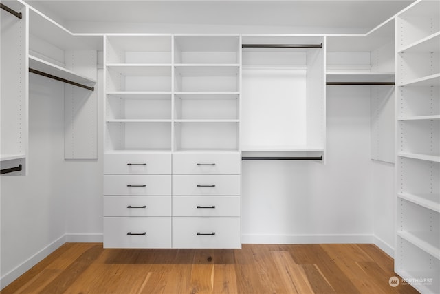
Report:
[{"label": "top white drawer in the right-hand drawer column", "polygon": [[241,174],[241,156],[173,154],[173,174]]}]

